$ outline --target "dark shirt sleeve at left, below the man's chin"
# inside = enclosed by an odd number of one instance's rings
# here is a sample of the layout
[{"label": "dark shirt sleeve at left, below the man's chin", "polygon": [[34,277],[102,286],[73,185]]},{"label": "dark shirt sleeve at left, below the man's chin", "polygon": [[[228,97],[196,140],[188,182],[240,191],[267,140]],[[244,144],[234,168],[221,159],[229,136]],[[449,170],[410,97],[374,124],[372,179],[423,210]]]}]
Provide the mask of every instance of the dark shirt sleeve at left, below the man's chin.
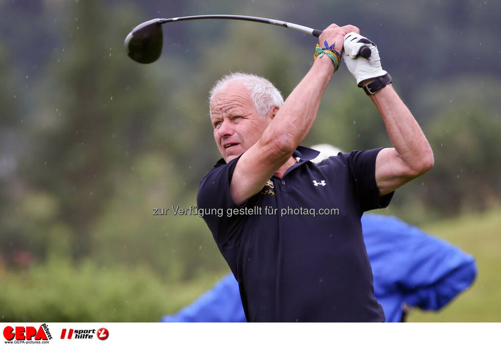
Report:
[{"label": "dark shirt sleeve at left, below the man's chin", "polygon": [[237,244],[243,227],[243,216],[228,212],[234,208],[244,207],[246,204],[240,206],[235,204],[229,192],[229,185],[238,159],[240,157],[227,164],[214,167],[203,177],[198,188],[198,212],[203,212],[202,218],[207,223],[219,248]]}]

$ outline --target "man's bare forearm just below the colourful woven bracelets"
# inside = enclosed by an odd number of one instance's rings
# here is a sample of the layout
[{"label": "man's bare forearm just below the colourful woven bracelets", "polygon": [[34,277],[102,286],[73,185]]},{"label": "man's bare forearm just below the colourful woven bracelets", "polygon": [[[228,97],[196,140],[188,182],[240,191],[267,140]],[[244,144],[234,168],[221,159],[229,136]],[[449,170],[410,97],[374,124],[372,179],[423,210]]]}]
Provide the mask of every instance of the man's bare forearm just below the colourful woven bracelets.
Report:
[{"label": "man's bare forearm just below the colourful woven bracelets", "polygon": [[262,140],[281,140],[289,150],[294,150],[312,128],[333,73],[331,59],[325,56],[315,60],[263,133]]}]

